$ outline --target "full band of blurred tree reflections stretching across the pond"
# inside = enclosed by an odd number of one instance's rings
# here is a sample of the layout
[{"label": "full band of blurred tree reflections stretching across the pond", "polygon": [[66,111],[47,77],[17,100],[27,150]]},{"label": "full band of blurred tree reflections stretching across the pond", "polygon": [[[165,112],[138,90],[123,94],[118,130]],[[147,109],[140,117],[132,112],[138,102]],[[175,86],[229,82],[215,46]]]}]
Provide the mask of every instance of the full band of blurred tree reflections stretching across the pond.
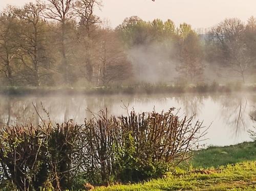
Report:
[{"label": "full band of blurred tree reflections stretching across the pond", "polygon": [[[90,118],[91,113],[87,112],[89,108],[93,112],[98,112],[100,109],[108,107],[110,114],[120,114],[126,111],[121,108],[121,100],[130,107],[140,106],[147,110],[148,105],[153,109],[155,104],[165,107],[166,102],[177,104],[186,115],[201,114],[204,108],[204,103],[212,100],[216,103],[221,103],[221,119],[236,135],[240,131],[247,130],[249,119],[249,102],[245,97],[238,96],[198,96],[195,94],[185,94],[180,97],[169,98],[159,96],[150,97],[122,97],[122,96],[67,96],[60,98],[59,96],[52,97],[1,97],[0,99],[0,123],[15,125],[15,124],[30,124],[40,122],[32,102],[43,119],[47,120],[47,114],[43,111],[42,106],[49,112],[51,120],[56,123],[62,123],[63,120],[73,119],[76,123],[83,123],[84,118]],[[156,102],[153,102],[156,101]],[[253,101],[252,101],[253,102]],[[173,105],[170,105],[172,107]],[[138,108],[137,108],[138,109]],[[207,108],[211,109],[211,108]],[[182,113],[180,113],[182,114]],[[256,114],[253,115],[256,118]],[[203,119],[202,119],[203,120]],[[222,122],[220,122],[222,123]],[[221,125],[221,124],[220,124]],[[251,128],[251,127],[250,127]]]}]

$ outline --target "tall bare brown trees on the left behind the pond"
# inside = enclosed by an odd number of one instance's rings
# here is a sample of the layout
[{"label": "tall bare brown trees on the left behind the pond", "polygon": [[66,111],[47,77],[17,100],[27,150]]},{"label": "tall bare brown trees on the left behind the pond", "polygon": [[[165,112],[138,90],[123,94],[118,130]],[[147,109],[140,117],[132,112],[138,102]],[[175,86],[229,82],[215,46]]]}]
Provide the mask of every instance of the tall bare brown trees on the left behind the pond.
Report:
[{"label": "tall bare brown trees on the left behind the pond", "polygon": [[124,79],[130,63],[117,33],[98,25],[96,6],[95,0],[47,0],[7,7],[0,19],[2,82],[106,85]]}]

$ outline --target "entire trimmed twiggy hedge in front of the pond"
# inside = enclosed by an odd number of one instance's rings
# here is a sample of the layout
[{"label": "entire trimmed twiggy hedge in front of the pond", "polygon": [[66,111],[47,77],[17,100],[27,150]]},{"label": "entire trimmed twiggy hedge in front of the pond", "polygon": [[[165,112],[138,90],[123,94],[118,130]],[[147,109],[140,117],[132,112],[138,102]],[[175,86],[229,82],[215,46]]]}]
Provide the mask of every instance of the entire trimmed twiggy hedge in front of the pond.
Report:
[{"label": "entire trimmed twiggy hedge in front of the pond", "polygon": [[162,176],[198,147],[202,123],[155,111],[129,116],[100,112],[83,125],[2,127],[0,176],[20,190],[82,188]]}]

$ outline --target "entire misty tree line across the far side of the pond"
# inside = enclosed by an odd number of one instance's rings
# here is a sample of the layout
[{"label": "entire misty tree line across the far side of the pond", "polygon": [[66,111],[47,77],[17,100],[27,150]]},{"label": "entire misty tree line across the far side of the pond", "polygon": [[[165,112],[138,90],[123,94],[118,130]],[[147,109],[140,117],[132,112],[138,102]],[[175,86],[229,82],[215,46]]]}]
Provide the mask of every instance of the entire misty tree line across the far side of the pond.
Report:
[{"label": "entire misty tree line across the far side of the pond", "polygon": [[[176,27],[170,19],[137,16],[111,29],[94,14],[100,6],[98,0],[45,0],[6,7],[0,15],[1,84],[108,86],[135,83],[145,74],[153,82],[157,72],[169,81],[197,83],[205,79],[206,63],[243,82],[253,75],[254,17],[246,24],[225,19],[205,35],[187,23]],[[146,55],[131,53],[138,47]],[[148,61],[148,54],[154,60]],[[153,69],[147,74],[148,68]]]}]

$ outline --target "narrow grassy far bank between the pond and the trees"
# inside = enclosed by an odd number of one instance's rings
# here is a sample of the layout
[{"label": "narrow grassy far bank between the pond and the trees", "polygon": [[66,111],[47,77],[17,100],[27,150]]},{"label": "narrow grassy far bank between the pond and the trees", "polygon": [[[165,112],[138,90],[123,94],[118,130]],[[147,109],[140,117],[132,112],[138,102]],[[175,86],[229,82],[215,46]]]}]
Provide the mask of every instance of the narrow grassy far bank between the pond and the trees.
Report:
[{"label": "narrow grassy far bank between the pond and the trees", "polygon": [[28,95],[28,94],[136,94],[136,93],[212,93],[256,91],[255,85],[241,84],[197,84],[197,85],[168,85],[168,84],[139,84],[108,87],[0,87],[0,94]]}]

